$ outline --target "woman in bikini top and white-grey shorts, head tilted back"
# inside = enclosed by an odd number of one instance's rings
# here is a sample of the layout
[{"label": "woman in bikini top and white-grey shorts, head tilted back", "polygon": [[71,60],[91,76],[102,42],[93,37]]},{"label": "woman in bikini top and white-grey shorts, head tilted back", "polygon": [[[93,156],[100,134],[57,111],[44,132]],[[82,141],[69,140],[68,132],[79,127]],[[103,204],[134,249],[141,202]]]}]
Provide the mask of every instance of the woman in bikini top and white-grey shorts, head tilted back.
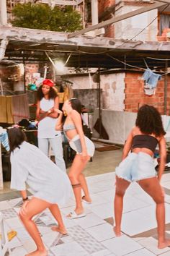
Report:
[{"label": "woman in bikini top and white-grey shorts, head tilted back", "polygon": [[[82,171],[86,163],[94,155],[94,143],[88,137],[84,136],[81,120],[81,103],[77,98],[72,98],[64,103],[63,111],[66,111],[67,114],[64,124],[62,123],[63,112],[58,109],[55,109],[55,111],[58,111],[59,114],[55,129],[62,129],[63,126],[63,132],[68,138],[71,148],[76,151],[76,156],[68,173],[76,198],[76,208],[67,217],[81,218],[86,216],[82,200],[91,203],[89,189]],[[81,197],[81,189],[84,191],[83,197]]]}]

